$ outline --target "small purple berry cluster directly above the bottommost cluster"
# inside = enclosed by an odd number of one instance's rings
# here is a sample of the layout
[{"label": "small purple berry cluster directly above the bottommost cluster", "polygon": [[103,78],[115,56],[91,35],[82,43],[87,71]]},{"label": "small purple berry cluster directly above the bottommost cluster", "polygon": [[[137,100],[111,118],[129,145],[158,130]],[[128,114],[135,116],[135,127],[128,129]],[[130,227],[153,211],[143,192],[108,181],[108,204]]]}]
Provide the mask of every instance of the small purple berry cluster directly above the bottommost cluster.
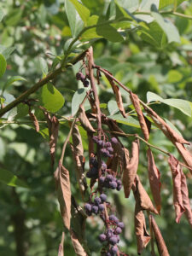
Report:
[{"label": "small purple berry cluster directly above the bottommost cluster", "polygon": [[107,195],[101,194],[100,197],[96,197],[94,199],[94,202],[92,203],[86,203],[84,206],[84,209],[88,216],[90,216],[92,213],[99,213],[103,212],[105,210],[104,202],[107,201]]}]

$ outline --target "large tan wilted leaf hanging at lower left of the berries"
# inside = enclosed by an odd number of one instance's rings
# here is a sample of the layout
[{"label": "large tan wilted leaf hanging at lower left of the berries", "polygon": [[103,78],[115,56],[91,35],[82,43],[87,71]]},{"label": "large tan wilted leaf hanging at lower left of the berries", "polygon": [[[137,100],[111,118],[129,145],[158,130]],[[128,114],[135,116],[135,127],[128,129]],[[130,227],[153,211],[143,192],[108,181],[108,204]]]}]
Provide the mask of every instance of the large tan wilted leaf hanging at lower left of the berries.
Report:
[{"label": "large tan wilted leaf hanging at lower left of the berries", "polygon": [[71,222],[71,185],[67,169],[61,165],[54,172],[58,201],[64,226],[70,230]]}]

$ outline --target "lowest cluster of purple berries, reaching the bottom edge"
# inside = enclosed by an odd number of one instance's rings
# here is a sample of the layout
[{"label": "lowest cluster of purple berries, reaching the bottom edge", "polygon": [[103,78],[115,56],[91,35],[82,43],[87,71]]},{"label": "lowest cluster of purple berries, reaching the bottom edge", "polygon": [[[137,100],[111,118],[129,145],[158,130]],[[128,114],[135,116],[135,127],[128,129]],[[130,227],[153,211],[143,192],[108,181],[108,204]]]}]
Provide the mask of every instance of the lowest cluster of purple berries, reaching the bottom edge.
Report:
[{"label": "lowest cluster of purple berries, reaching the bottom edge", "polygon": [[106,241],[111,245],[106,256],[113,256],[118,252],[117,243],[119,243],[119,234],[122,232],[125,225],[123,222],[119,222],[119,219],[113,214],[109,216],[108,220],[113,228],[108,228],[105,233],[99,236],[99,240],[101,242]]}]

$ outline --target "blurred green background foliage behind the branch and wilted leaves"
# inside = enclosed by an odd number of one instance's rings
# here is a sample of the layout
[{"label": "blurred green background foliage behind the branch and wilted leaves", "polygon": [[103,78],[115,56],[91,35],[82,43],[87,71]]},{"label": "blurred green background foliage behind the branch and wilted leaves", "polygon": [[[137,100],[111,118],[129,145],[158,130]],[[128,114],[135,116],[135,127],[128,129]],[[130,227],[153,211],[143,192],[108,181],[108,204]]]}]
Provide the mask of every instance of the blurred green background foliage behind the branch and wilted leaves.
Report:
[{"label": "blurred green background foliage behind the branch and wilted leaves", "polygon": [[[105,15],[109,2],[82,0],[94,15]],[[177,11],[192,15],[191,3],[192,1],[184,1]],[[14,75],[20,75],[26,79],[26,82],[15,83],[15,86],[10,87],[5,93],[6,101],[11,102],[14,97],[19,96],[41,79],[39,58],[43,58],[51,67],[55,56],[62,55],[65,43],[71,37],[71,31],[63,1],[60,0],[2,0],[0,8],[6,14],[0,23],[0,51],[3,51],[3,46],[13,49],[13,53],[7,59],[7,71],[0,84]],[[172,17],[172,20],[181,36],[181,44],[159,44],[155,40],[148,42],[148,37],[144,36],[139,29],[127,30],[124,43],[111,43],[103,38],[91,42],[96,64],[107,68],[117,79],[137,93],[144,102],[147,102],[148,91],[165,99],[180,98],[192,102],[192,20],[181,17]],[[81,49],[86,47],[84,44]],[[76,52],[79,51],[80,49],[76,49]],[[65,98],[63,108],[57,113],[58,117],[71,114],[73,94],[82,87],[82,84],[75,79],[79,65],[69,68],[67,73],[61,74],[53,82]],[[114,100],[112,90],[105,79],[102,80],[98,90],[101,103]],[[36,93],[32,97],[38,98],[38,96],[39,93]],[[124,102],[128,102],[127,94],[123,93],[123,97]],[[156,104],[153,108],[161,116],[169,119],[177,130],[192,142],[191,117],[166,104]],[[38,119],[41,119],[38,108],[34,109]],[[21,116],[16,115],[15,110],[9,113],[9,120],[13,123],[18,121],[20,124],[0,127],[0,168],[14,172],[29,187],[29,189],[15,188],[0,184],[0,255],[57,255],[63,224],[55,195],[54,170],[50,167],[48,129],[42,122],[41,131],[37,133],[26,116],[25,109],[22,110]],[[108,112],[107,109],[103,111]],[[25,119],[22,119],[24,117]],[[129,133],[140,132],[137,128],[130,126],[122,125],[122,128]],[[68,130],[67,122],[61,122],[55,162],[60,157],[61,145],[67,137]],[[84,138],[84,154],[87,157],[87,138],[83,129],[81,132]],[[127,140],[123,143],[130,148]],[[150,143],[178,157],[172,143],[167,141],[159,130],[152,132]],[[146,145],[141,143],[141,148],[138,173],[150,195]],[[161,216],[156,218],[157,223],[170,255],[192,255],[192,230],[189,224],[184,218],[180,224],[175,222],[172,205],[172,174],[167,164],[167,157],[157,150],[153,152],[161,173],[162,210]],[[65,166],[70,171],[73,195],[83,207],[73,172],[73,158],[68,148]],[[187,170],[184,172],[189,177],[189,197],[192,198],[191,176]],[[108,196],[113,206],[116,205],[119,218],[125,222],[126,226],[124,236],[121,236],[120,247],[125,253],[137,255],[133,227],[133,196],[125,200],[123,191],[109,192]],[[101,232],[101,220],[96,217],[88,218],[86,238],[91,255],[99,255],[101,244],[97,236]],[[75,255],[67,234],[65,255]],[[143,255],[150,255],[149,245]]]}]

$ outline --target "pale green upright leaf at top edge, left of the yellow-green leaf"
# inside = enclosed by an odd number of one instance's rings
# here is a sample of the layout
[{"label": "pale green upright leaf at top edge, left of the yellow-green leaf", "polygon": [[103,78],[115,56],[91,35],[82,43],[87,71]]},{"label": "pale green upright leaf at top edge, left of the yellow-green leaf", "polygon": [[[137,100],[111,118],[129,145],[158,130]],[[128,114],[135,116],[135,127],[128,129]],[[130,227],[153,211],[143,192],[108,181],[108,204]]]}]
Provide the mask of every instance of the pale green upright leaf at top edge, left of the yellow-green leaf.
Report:
[{"label": "pale green upright leaf at top edge, left of the yellow-green leaf", "polygon": [[70,0],[65,0],[65,9],[73,38],[75,38],[83,29],[84,23]]}]

